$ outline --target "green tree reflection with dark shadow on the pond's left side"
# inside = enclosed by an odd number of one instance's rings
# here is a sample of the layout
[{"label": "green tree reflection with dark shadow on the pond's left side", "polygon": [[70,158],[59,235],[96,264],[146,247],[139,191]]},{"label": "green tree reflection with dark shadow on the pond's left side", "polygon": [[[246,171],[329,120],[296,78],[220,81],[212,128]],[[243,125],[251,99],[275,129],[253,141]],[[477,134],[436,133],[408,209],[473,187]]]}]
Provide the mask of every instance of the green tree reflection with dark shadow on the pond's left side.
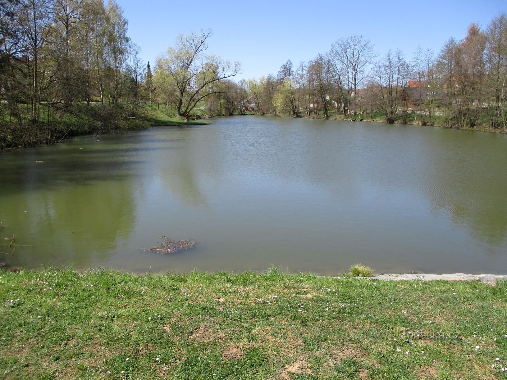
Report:
[{"label": "green tree reflection with dark shadow on the pond's left side", "polygon": [[12,247],[0,246],[12,254],[0,260],[28,268],[69,263],[87,268],[107,262],[118,241],[128,238],[136,213],[129,168],[138,161],[86,146],[86,151],[74,144],[13,152],[14,160],[4,160],[1,237],[16,239]]}]

